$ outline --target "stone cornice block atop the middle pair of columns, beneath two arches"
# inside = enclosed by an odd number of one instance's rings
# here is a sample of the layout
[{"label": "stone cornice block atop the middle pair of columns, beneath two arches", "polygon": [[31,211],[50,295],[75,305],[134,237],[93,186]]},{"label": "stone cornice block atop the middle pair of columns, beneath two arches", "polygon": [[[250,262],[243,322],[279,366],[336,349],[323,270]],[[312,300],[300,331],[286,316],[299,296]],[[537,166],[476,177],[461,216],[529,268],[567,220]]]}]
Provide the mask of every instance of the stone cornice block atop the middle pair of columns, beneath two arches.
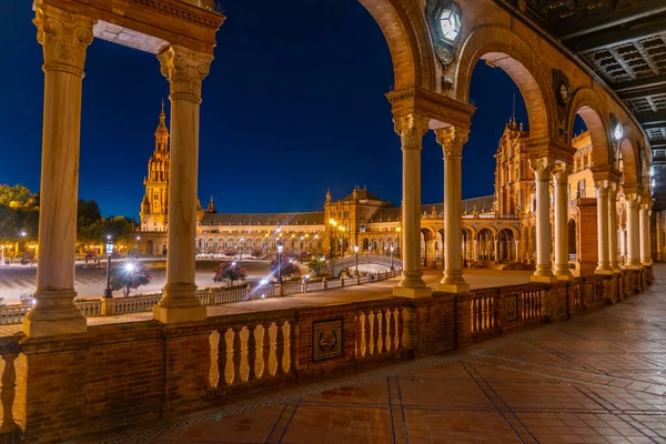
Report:
[{"label": "stone cornice block atop the middle pair of columns, beneath two arches", "polygon": [[446,125],[470,128],[475,107],[437,94],[425,88],[413,87],[386,94],[394,118],[417,114],[431,121],[432,129]]}]

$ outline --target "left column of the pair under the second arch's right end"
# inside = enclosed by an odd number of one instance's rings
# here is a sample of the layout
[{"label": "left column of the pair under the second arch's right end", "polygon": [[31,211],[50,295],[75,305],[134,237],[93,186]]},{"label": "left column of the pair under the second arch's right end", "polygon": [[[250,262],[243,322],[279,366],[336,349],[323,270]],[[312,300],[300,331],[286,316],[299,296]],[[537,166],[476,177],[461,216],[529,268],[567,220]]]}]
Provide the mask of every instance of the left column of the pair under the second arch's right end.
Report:
[{"label": "left column of the pair under the second arch's right end", "polygon": [[536,271],[535,282],[555,282],[551,263],[551,199],[549,183],[554,162],[548,158],[531,159],[536,182]]}]

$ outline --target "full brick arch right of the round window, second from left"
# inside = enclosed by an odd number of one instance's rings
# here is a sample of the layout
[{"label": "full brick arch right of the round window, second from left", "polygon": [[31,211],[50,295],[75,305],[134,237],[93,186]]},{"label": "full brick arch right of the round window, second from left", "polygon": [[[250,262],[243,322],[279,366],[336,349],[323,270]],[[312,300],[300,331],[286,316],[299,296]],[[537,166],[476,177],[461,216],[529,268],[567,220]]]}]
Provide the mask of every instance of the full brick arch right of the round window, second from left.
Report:
[{"label": "full brick arch right of the round window, second from left", "polygon": [[504,27],[484,26],[472,31],[461,47],[455,71],[454,97],[462,102],[470,102],[472,74],[480,60],[501,68],[521,90],[527,107],[529,135],[555,138],[549,75],[532,48]]}]

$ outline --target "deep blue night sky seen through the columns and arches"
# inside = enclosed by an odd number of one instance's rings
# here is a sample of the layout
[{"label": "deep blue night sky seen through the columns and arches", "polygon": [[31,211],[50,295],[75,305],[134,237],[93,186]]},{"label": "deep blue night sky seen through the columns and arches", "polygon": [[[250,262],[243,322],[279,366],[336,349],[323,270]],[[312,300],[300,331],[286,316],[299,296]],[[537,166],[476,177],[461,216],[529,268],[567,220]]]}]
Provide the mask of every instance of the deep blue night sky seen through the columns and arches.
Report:
[{"label": "deep blue night sky seen through the columns and arches", "polygon": [[[357,0],[224,0],[211,73],[203,83],[199,195],[220,212],[321,210],[354,184],[401,202],[402,157],[384,94],[389,47]],[[0,1],[0,183],[39,190],[43,73],[28,1]],[[95,40],[83,80],[80,191],[102,213],[138,219],[167,80],[153,54]],[[478,109],[463,160],[463,196],[493,193],[493,154],[517,93],[480,63]],[[423,202],[441,202],[442,149],[423,151]]]}]

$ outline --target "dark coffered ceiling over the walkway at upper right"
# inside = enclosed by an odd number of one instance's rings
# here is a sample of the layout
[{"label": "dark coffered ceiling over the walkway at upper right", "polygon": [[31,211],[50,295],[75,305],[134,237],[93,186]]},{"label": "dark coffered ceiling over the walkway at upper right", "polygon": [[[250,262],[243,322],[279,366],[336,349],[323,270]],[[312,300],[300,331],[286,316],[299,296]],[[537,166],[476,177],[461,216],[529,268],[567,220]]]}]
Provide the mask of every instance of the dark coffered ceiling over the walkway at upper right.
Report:
[{"label": "dark coffered ceiling over the walkway at upper right", "polygon": [[601,77],[653,149],[655,209],[666,210],[666,0],[496,0],[521,10]]}]

